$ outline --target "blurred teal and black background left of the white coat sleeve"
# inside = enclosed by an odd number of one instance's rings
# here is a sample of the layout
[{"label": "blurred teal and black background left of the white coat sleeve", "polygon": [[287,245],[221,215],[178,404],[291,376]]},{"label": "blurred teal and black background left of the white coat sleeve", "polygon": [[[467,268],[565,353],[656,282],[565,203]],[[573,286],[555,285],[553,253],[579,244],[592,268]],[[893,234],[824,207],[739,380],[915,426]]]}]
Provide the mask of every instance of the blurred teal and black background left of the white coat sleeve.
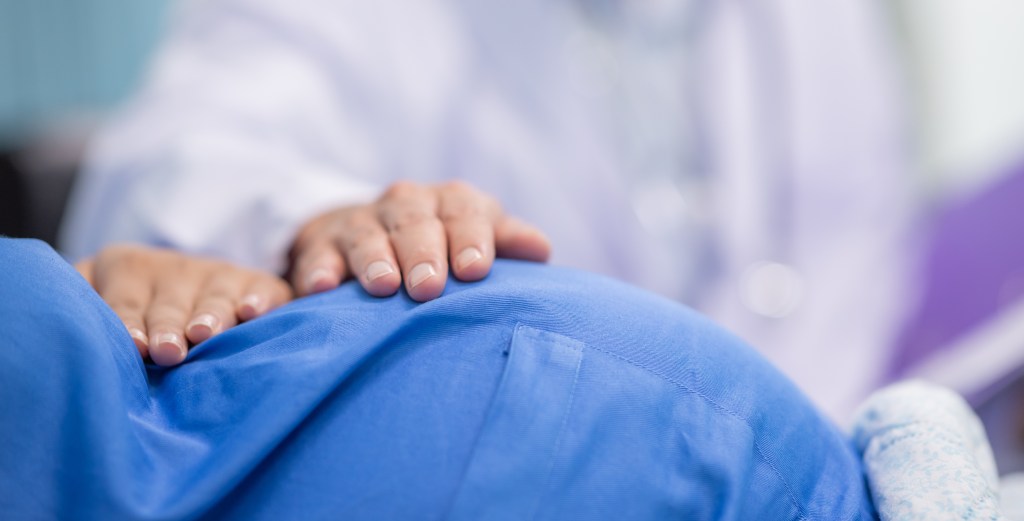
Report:
[{"label": "blurred teal and black background left of the white coat sleeve", "polygon": [[89,134],[142,78],[168,0],[0,0],[0,234],[53,243]]}]

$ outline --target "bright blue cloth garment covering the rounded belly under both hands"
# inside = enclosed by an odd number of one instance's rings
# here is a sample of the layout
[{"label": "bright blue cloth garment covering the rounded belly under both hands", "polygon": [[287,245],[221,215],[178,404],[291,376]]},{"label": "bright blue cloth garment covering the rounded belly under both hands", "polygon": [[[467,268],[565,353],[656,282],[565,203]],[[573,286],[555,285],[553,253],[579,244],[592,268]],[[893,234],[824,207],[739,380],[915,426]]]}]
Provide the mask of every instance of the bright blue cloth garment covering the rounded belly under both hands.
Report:
[{"label": "bright blue cloth garment covering the rounded belly under both hands", "polygon": [[143,366],[40,243],[0,240],[4,519],[872,519],[841,433],[695,313],[499,262],[354,285]]}]

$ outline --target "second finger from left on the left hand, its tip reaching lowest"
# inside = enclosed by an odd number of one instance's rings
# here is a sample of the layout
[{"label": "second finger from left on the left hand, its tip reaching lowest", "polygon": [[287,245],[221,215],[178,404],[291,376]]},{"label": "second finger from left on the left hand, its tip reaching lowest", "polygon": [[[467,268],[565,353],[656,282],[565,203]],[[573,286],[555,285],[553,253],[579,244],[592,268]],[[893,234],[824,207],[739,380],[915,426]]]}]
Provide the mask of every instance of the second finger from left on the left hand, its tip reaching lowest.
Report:
[{"label": "second finger from left on the left hand, its tip reaching lowest", "polygon": [[168,270],[159,278],[145,312],[150,358],[160,365],[177,365],[185,359],[185,325],[205,273],[198,269]]}]

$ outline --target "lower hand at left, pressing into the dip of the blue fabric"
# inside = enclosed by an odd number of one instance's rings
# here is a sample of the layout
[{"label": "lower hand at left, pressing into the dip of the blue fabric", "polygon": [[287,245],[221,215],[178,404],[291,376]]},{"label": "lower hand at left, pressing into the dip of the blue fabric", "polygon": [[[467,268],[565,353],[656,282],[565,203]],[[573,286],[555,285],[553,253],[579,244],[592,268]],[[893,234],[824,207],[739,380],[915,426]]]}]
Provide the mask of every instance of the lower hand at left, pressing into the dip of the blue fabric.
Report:
[{"label": "lower hand at left, pressing into the dip of the blue fabric", "polygon": [[199,344],[288,302],[278,276],[169,250],[114,246],[79,262],[79,273],[121,317],[142,358],[185,359]]}]

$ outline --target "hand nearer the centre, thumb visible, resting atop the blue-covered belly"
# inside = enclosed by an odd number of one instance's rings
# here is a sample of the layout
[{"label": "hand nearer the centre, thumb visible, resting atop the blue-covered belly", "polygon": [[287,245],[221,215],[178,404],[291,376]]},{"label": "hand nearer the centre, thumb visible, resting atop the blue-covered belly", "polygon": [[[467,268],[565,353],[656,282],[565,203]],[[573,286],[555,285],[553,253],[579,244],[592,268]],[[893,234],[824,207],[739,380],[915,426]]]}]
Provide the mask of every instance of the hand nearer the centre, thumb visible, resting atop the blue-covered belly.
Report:
[{"label": "hand nearer the centre, thumb visible, resting atop the blue-covered belly", "polygon": [[450,264],[460,280],[479,280],[496,256],[544,262],[550,253],[541,231],[466,183],[397,182],[374,203],[306,223],[292,246],[289,272],[299,295],[353,277],[378,297],[394,294],[404,280],[410,297],[423,302],[444,290]]}]

